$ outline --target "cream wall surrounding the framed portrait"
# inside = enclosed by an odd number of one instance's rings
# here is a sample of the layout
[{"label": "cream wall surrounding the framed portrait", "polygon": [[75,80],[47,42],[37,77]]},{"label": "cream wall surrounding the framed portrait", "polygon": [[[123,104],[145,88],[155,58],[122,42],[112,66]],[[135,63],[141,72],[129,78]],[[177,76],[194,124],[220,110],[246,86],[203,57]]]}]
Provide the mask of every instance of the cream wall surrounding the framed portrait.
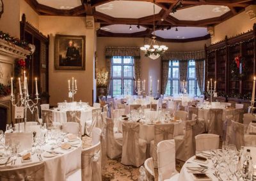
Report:
[{"label": "cream wall surrounding the framed portrait", "polygon": [[[93,88],[95,88],[94,73],[94,52],[95,52],[95,31],[86,29],[85,17],[39,17],[39,29],[44,34],[50,35],[49,44],[49,94],[50,105],[57,105],[58,102],[68,99],[68,79],[74,76],[77,79],[77,94],[75,101],[89,102],[92,104]],[[54,38],[55,34],[85,35],[86,36],[86,70],[66,71],[54,69]],[[96,90],[94,90],[96,91]]]}]

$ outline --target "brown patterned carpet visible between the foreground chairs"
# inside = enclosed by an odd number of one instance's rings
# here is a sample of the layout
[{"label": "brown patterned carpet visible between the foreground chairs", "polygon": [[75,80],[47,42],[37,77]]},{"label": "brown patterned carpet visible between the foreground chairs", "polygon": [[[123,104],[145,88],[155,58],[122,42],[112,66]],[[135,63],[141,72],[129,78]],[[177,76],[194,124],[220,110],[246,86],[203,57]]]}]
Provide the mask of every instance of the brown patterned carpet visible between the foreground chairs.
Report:
[{"label": "brown patterned carpet visible between the foreground chairs", "polygon": [[[83,136],[83,148],[90,147],[92,145],[92,138]],[[109,181],[130,181],[138,180],[140,175],[140,168],[134,166],[125,166],[121,164],[121,158],[109,159],[106,164],[106,168],[102,171],[102,180]],[[176,170],[180,172],[184,162],[176,160]],[[155,169],[156,178],[158,177],[157,169]],[[157,180],[157,179],[156,179]]]}]

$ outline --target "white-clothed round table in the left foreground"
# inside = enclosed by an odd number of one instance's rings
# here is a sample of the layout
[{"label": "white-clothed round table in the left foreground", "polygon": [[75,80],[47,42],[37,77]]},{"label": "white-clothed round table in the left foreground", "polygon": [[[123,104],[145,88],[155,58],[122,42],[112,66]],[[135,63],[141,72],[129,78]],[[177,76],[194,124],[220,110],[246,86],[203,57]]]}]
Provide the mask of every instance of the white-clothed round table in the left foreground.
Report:
[{"label": "white-clothed round table in the left foreground", "polygon": [[[51,141],[43,146],[45,151],[51,150]],[[70,142],[72,144],[72,142]],[[82,152],[82,142],[79,139],[79,143],[71,147],[70,150],[62,150],[60,147],[55,148],[54,151],[61,152],[62,154],[57,154],[54,157],[44,157],[46,152],[43,152],[42,161],[45,163],[45,180],[47,181],[65,181],[65,177],[68,173],[78,170],[81,168],[81,152]],[[8,163],[6,166],[0,165],[0,169],[9,169],[9,168],[19,168],[20,166],[26,166],[28,164],[38,163],[40,160],[38,159],[36,153],[32,154],[31,162],[22,163],[22,158],[17,157],[16,164],[14,166],[11,163]]]}]

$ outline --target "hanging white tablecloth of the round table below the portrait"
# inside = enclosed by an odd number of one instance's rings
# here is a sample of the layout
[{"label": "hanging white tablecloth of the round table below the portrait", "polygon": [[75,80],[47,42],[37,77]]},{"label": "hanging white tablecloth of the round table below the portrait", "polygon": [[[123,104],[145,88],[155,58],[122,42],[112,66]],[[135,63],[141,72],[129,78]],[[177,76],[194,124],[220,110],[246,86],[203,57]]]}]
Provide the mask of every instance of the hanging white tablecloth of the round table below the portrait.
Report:
[{"label": "hanging white tablecloth of the round table below the portrait", "polygon": [[[80,111],[80,110],[79,110]],[[52,117],[54,122],[67,122],[67,111],[66,110],[52,110]],[[82,125],[82,135],[84,135],[84,129],[86,120],[92,120],[92,109],[81,110],[81,125]]]}]

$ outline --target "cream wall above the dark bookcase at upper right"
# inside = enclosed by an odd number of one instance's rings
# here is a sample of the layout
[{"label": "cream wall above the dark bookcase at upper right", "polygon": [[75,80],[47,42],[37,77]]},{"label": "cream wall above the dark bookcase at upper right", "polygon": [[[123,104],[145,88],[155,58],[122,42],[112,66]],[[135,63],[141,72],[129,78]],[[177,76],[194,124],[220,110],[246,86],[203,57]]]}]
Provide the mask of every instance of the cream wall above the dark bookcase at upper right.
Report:
[{"label": "cream wall above the dark bookcase at upper right", "polygon": [[214,27],[214,37],[211,38],[212,43],[224,40],[226,35],[232,37],[250,31],[255,23],[256,20],[250,20],[249,15],[243,11]]}]

